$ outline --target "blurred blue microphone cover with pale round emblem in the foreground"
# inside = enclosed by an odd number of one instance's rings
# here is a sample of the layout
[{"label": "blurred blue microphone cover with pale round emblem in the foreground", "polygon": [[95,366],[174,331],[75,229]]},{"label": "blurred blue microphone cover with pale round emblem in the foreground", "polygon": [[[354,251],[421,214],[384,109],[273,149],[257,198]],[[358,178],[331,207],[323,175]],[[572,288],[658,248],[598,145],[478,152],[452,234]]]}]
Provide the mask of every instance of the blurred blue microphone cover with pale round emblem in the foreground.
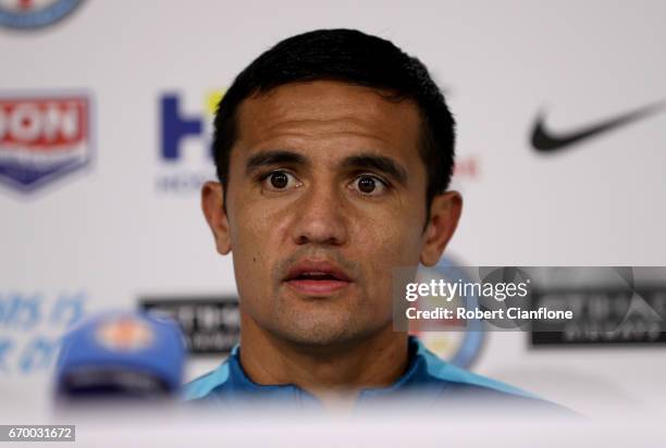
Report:
[{"label": "blurred blue microphone cover with pale round emblem in the foreground", "polygon": [[183,379],[185,344],[175,322],[107,313],[65,336],[58,360],[59,402],[174,397]]}]

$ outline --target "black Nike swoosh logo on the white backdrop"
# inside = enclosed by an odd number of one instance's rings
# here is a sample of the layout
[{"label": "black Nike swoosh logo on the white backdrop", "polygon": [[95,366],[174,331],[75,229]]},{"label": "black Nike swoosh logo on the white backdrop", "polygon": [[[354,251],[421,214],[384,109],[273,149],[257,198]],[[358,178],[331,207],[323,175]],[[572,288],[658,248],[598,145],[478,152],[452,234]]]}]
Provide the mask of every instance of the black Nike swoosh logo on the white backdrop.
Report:
[{"label": "black Nike swoosh logo on the white backdrop", "polygon": [[597,136],[608,130],[625,126],[648,115],[655,114],[666,108],[666,101],[658,101],[621,115],[591,124],[574,132],[556,134],[544,124],[544,115],[540,113],[532,128],[532,147],[543,153],[551,153],[570,147],[579,141]]}]

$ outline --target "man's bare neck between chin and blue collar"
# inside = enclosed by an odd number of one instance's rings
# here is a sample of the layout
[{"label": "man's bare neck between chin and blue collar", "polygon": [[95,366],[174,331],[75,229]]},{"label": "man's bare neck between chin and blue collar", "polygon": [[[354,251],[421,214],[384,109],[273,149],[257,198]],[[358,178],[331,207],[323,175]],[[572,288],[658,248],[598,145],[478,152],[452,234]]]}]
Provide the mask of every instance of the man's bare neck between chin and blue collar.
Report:
[{"label": "man's bare neck between chin and blue collar", "polygon": [[295,384],[324,403],[354,400],[359,389],[385,387],[407,369],[407,334],[392,325],[361,340],[329,346],[295,344],[243,316],[240,363],[262,385]]}]

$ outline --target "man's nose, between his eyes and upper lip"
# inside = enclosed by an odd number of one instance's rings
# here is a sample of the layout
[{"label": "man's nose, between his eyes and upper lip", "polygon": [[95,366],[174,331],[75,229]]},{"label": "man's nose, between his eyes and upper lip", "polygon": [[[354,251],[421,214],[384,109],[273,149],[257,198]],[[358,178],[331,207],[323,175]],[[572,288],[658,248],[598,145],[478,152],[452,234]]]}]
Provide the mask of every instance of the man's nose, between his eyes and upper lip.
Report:
[{"label": "man's nose, between his eyes and upper lip", "polygon": [[333,186],[311,185],[296,208],[292,237],[297,245],[341,246],[347,241],[346,208]]}]

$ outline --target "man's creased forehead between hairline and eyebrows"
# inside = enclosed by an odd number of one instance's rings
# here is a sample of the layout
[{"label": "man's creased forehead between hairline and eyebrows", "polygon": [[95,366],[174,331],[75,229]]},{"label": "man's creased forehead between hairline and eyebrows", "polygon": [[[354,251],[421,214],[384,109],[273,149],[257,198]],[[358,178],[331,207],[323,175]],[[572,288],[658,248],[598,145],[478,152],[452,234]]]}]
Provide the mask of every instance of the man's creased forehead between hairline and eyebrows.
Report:
[{"label": "man's creased forehead between hairline and eyebrows", "polygon": [[418,107],[411,100],[388,97],[386,91],[334,80],[286,84],[243,101],[238,142],[262,149],[257,147],[289,142],[321,147],[325,141],[340,149],[353,141],[395,155],[417,154]]}]

